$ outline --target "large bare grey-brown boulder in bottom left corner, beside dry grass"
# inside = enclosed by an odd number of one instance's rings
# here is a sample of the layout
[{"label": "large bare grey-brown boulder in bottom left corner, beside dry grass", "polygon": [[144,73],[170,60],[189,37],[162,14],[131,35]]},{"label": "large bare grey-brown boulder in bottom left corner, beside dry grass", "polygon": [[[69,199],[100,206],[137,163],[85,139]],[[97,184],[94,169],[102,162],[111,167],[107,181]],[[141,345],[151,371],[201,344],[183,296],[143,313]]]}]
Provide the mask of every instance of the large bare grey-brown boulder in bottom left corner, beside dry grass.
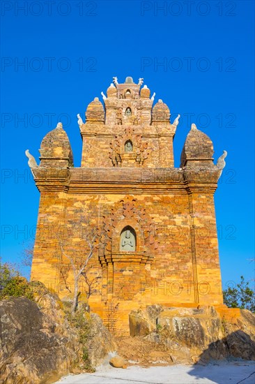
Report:
[{"label": "large bare grey-brown boulder in bottom left corner, beside dry grass", "polygon": [[[26,297],[0,302],[0,383],[53,383],[75,365],[77,334],[56,332],[56,322]],[[64,328],[64,325],[61,325]]]}]

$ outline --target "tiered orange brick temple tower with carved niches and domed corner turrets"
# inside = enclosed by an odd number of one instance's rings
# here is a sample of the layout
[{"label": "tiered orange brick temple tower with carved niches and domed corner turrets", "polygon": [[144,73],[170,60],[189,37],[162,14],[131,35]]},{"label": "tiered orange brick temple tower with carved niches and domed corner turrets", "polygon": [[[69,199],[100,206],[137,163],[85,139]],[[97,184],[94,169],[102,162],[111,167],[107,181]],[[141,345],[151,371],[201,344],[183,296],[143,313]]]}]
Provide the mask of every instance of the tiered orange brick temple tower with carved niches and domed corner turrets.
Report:
[{"label": "tiered orange brick temple tower with carved niches and domed corner turrets", "polygon": [[148,304],[222,304],[214,193],[226,152],[215,165],[212,141],[192,124],[174,168],[179,116],[171,124],[154,97],[143,79],[114,77],[104,105],[94,98],[85,123],[77,115],[79,168],[61,123],[42,140],[40,165],[27,152],[40,191],[31,279],[70,295],[72,263],[92,250],[79,288],[123,332]]}]

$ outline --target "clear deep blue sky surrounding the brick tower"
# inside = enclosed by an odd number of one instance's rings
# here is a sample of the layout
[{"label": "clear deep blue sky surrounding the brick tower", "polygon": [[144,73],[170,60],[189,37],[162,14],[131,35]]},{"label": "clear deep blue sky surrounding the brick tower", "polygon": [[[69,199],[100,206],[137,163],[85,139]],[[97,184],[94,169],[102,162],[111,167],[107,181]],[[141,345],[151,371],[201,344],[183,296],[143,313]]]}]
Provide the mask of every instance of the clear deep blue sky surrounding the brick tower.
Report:
[{"label": "clear deep blue sky surrounding the brick tower", "polygon": [[180,113],[176,166],[190,122],[210,136],[215,159],[228,151],[215,193],[222,279],[252,279],[254,1],[1,1],[1,57],[3,260],[18,261],[36,226],[25,149],[38,160],[61,119],[79,166],[77,113],[112,76],[130,75],[144,77],[172,121]]}]

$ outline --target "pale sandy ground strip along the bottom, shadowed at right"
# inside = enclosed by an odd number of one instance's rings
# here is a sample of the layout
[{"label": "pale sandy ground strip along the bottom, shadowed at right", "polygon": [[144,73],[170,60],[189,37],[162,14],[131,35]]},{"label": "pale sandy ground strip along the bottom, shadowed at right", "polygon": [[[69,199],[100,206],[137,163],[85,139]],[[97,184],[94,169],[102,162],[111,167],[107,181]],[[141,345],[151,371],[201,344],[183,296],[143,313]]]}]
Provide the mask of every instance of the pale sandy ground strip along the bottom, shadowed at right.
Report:
[{"label": "pale sandy ground strip along the bottom, shadowed at right", "polygon": [[93,374],[69,375],[59,384],[254,384],[255,362],[220,362],[203,365],[171,365],[117,369],[99,367]]}]

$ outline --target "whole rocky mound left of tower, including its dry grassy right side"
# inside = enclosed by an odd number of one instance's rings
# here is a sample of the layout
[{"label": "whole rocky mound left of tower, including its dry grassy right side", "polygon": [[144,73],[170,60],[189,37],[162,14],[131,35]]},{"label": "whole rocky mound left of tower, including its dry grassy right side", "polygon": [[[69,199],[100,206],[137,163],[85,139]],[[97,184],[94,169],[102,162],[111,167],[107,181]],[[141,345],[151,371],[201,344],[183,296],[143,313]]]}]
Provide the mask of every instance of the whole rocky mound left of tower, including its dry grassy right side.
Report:
[{"label": "whole rocky mound left of tower, including its dry grassy right side", "polygon": [[71,320],[55,293],[38,281],[30,286],[34,301],[0,302],[0,384],[54,383],[69,372],[93,369],[115,349],[98,315],[80,311]]}]

